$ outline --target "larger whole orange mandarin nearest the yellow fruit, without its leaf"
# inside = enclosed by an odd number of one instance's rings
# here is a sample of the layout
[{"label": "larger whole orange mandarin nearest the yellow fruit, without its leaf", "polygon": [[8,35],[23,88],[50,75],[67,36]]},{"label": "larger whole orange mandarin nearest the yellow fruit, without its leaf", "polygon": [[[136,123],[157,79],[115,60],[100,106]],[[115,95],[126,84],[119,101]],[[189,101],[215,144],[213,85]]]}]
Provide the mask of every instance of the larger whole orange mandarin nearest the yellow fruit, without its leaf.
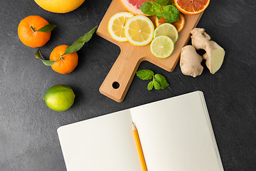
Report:
[{"label": "larger whole orange mandarin nearest the yellow fruit, without its leaf", "polygon": [[50,39],[51,31],[37,30],[48,24],[48,21],[41,16],[27,16],[18,24],[18,38],[24,45],[31,48],[44,46]]}]

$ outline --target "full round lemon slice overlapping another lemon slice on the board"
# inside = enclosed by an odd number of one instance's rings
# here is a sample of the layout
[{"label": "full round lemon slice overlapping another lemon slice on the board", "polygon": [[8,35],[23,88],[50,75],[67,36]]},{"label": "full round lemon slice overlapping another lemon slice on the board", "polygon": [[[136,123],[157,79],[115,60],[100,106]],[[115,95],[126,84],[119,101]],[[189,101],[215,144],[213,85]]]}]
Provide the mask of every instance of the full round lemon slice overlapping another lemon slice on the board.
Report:
[{"label": "full round lemon slice overlapping another lemon slice on the board", "polygon": [[133,16],[128,19],[124,33],[128,41],[133,45],[144,46],[153,39],[154,24],[146,16]]}]

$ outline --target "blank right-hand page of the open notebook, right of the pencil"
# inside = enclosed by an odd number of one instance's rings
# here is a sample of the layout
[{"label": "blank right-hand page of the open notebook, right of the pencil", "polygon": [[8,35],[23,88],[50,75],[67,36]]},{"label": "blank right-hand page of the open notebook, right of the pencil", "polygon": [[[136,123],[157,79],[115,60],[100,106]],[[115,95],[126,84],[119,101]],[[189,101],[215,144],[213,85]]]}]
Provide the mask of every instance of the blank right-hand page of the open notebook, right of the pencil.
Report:
[{"label": "blank right-hand page of the open notebook, right of the pencil", "polygon": [[202,92],[130,110],[149,171],[223,170]]}]

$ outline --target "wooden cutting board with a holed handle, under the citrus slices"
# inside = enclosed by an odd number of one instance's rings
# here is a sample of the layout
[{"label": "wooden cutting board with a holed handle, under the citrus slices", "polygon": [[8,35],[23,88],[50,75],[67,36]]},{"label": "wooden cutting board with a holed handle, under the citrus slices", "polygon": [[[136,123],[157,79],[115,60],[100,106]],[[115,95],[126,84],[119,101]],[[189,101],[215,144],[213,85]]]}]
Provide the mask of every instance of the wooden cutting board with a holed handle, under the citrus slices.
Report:
[{"label": "wooden cutting board with a holed handle, under the citrus slices", "polygon": [[[161,59],[151,54],[150,43],[146,46],[134,46],[129,42],[114,41],[107,30],[107,24],[111,16],[122,11],[127,10],[124,9],[120,0],[113,0],[96,31],[98,36],[116,44],[121,49],[121,53],[114,62],[110,72],[107,74],[102,86],[100,86],[100,93],[117,102],[124,100],[127,90],[132,83],[132,79],[142,61],[154,63],[156,66],[169,72],[174,71],[180,57],[181,48],[188,43],[191,29],[196,27],[203,14],[184,15],[185,26],[183,30],[178,33],[178,41],[175,43],[174,52],[169,58]],[[155,24],[155,16],[150,16],[149,19]]]}]

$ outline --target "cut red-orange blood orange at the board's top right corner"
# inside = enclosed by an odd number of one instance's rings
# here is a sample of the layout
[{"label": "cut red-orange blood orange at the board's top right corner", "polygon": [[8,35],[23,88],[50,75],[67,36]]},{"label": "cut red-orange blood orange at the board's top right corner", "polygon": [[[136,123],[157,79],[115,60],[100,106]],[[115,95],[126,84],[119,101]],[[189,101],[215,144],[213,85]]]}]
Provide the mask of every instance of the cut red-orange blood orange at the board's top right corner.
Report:
[{"label": "cut red-orange blood orange at the board's top right corner", "polygon": [[174,3],[183,14],[193,15],[203,12],[210,0],[174,0]]}]

